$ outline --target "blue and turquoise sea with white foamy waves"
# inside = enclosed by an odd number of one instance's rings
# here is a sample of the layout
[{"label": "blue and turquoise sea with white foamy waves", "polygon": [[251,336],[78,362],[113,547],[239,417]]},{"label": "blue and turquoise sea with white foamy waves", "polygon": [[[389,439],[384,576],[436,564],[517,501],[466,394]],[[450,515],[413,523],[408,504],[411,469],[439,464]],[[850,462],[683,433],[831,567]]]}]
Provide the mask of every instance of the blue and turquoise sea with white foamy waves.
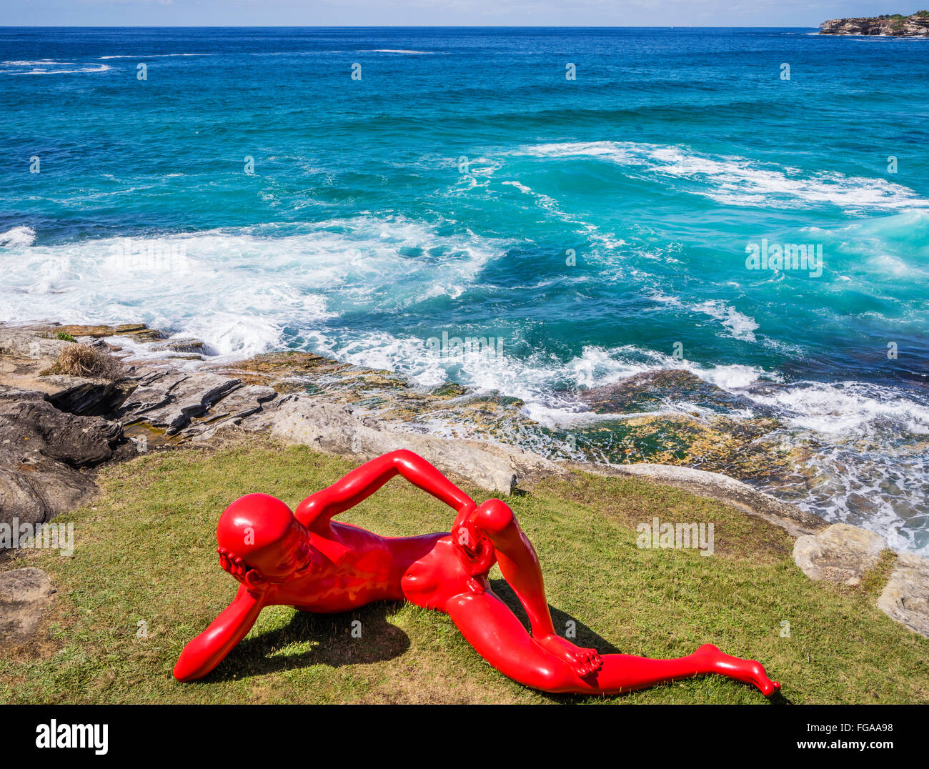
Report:
[{"label": "blue and turquoise sea with white foamy waves", "polygon": [[929,41],[815,32],[0,29],[0,320],[311,349],[549,425],[686,368],[806,447],[776,493],[927,553]]}]

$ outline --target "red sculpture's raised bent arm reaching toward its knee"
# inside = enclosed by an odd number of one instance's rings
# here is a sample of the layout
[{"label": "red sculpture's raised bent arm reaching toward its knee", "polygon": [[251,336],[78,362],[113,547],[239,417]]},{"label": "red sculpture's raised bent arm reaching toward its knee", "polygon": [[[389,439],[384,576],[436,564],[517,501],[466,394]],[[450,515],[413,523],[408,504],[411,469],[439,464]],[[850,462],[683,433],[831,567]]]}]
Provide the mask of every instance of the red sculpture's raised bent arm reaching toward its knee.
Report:
[{"label": "red sculpture's raised bent arm reaching toward its knee", "polygon": [[370,497],[393,476],[403,476],[414,486],[428,491],[453,508],[459,517],[475,509],[476,504],[447,477],[418,454],[401,449],[364,463],[328,489],[322,489],[300,502],[297,519],[309,527],[314,521],[328,522]]}]

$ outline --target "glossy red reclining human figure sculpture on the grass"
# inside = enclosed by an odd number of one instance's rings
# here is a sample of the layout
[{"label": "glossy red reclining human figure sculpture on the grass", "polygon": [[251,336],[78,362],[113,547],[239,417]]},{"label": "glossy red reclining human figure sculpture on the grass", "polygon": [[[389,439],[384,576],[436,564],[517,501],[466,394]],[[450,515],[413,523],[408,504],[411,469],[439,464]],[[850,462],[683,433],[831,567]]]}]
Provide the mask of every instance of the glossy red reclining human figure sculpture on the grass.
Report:
[{"label": "glossy red reclining human figure sculpture on the grass", "polygon": [[[379,537],[334,523],[397,474],[454,508],[451,534]],[[220,565],[242,584],[231,604],[184,647],[178,681],[216,668],[249,632],[264,606],[332,613],[372,601],[405,599],[448,614],[467,642],[498,671],[546,692],[619,694],[702,673],[754,684],[765,696],[780,684],[752,659],[705,644],[688,657],[599,655],[555,632],[539,559],[500,500],[476,504],[412,451],[392,451],[361,465],[291,513],[267,494],[233,502],[216,527]],[[492,591],[494,563],[529,615],[531,634]]]}]

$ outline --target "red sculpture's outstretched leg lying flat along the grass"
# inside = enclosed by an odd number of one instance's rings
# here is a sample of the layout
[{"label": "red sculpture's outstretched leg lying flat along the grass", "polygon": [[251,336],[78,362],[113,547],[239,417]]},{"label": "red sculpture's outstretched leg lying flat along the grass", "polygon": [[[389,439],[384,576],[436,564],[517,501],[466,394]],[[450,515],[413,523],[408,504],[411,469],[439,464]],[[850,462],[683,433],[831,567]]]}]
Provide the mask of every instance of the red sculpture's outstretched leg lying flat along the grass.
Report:
[{"label": "red sculpture's outstretched leg lying flat along the grass", "polygon": [[564,659],[536,643],[493,593],[462,593],[451,599],[447,610],[467,642],[494,668],[520,684],[546,692],[621,694],[703,673],[753,684],[765,696],[779,689],[758,662],[729,657],[709,644],[677,659],[606,654],[600,670],[580,676]]}]

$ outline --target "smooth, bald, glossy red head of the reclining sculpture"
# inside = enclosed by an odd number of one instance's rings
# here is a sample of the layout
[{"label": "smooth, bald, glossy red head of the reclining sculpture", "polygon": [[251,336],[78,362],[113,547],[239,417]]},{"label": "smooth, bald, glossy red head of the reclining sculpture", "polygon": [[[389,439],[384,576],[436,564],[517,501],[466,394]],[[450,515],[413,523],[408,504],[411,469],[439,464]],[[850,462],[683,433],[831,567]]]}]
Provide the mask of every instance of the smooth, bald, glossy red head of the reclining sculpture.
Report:
[{"label": "smooth, bald, glossy red head of the reclining sculpture", "polygon": [[247,587],[293,580],[313,564],[309,531],[268,494],[232,502],[219,517],[216,543],[222,567]]}]

